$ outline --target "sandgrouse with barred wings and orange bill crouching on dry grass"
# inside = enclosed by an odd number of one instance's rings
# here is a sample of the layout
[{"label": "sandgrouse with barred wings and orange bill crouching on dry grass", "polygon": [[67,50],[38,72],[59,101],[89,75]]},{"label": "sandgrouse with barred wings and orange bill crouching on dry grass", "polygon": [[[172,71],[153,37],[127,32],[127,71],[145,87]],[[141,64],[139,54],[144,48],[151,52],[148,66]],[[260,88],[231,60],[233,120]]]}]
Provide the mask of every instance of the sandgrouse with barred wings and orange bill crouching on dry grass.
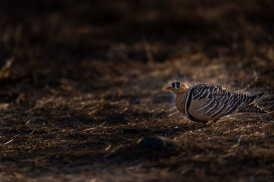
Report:
[{"label": "sandgrouse with barred wings and orange bill crouching on dry grass", "polygon": [[254,104],[264,93],[254,96],[240,94],[222,86],[174,82],[166,90],[176,94],[175,103],[179,112],[196,122],[216,122],[221,117],[236,112],[260,112],[264,109]]}]

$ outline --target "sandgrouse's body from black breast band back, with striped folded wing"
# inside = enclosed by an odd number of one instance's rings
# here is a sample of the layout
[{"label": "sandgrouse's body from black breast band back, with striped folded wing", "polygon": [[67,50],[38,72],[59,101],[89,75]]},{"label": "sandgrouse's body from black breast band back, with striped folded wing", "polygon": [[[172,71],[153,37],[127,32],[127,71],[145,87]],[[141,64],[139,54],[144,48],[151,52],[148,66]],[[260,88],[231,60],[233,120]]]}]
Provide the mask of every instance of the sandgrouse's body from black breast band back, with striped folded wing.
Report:
[{"label": "sandgrouse's body from black breast band back, with striped folded wing", "polygon": [[239,108],[253,103],[261,96],[262,94],[240,94],[222,86],[197,84],[188,90],[185,113],[188,118],[197,122],[216,120],[236,113]]}]

